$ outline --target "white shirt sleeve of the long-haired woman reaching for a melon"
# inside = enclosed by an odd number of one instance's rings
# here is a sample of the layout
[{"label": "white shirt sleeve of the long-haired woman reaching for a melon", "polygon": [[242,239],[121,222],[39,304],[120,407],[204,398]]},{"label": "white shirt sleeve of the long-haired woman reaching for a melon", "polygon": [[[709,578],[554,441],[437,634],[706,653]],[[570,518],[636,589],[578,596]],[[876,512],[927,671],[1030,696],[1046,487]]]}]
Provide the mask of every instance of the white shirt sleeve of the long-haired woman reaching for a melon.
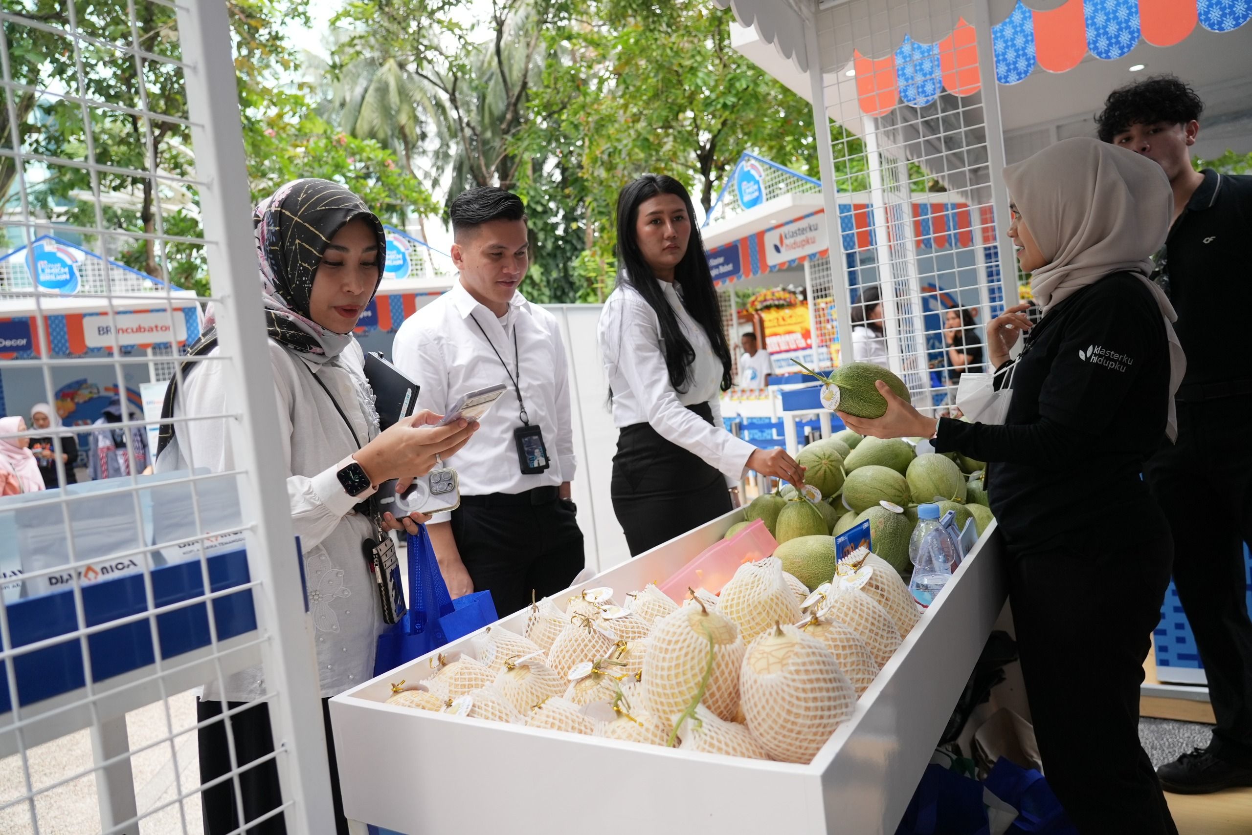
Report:
[{"label": "white shirt sleeve of the long-haired woman reaching for a melon", "polygon": [[[727,432],[720,421],[716,426],[710,426],[700,415],[679,402],[665,366],[660,328],[647,302],[621,299],[615,306],[618,334],[616,339],[610,334],[610,344],[616,342],[618,352],[613,360],[639,401],[645,404],[647,422],[661,438],[720,470],[727,484],[737,484],[756,448]],[[716,399],[714,395],[710,404]],[[715,420],[720,411],[720,406],[714,406]]]}]

